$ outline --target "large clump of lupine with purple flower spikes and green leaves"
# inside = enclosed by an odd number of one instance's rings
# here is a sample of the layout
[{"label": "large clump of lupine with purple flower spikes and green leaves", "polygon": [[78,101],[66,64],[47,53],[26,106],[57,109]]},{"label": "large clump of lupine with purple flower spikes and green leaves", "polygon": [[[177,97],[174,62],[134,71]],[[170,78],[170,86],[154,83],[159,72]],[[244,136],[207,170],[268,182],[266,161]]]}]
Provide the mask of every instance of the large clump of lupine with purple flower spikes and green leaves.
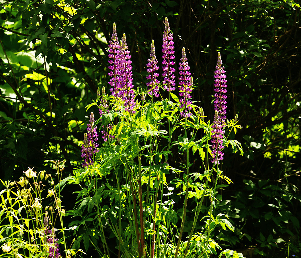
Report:
[{"label": "large clump of lupine with purple flower spikes and green leaves", "polygon": [[[123,34],[118,42],[115,23],[109,43],[111,93],[106,95],[103,89],[100,94],[98,89],[96,101],[87,106],[87,110],[97,106],[99,116],[95,121],[94,113],[90,115],[82,144],[85,160],[69,179],[69,183],[81,187],[76,192],[75,209],[68,212],[81,218],[70,224],[77,236],[73,248],[79,248],[83,241],[85,248],[94,247],[99,257],[217,255],[221,248],[213,239],[214,229],[234,230],[226,215],[215,214],[213,210],[221,201],[217,182],[231,183],[221,170],[224,148],[231,146],[234,153],[238,149],[243,153],[240,143],[229,139],[230,132],[236,133],[240,126],[237,116],[226,121],[227,81],[220,52],[214,76],[215,114],[210,123],[210,120],[205,122],[203,108],[192,99],[194,85],[185,48],[178,66],[178,95],[173,93],[176,92],[174,42],[167,18],[162,78],[157,73],[159,62],[152,41],[145,88],[134,87],[126,36]],[[103,140],[97,138],[98,124]],[[204,133],[200,139],[196,138],[198,130]],[[175,164],[178,167],[168,162],[175,146],[183,157],[180,166]],[[197,170],[190,171],[191,155],[199,160]],[[172,175],[171,180],[166,179],[170,178],[167,174]],[[182,204],[173,200],[175,192],[184,196]],[[200,219],[205,198],[209,203],[208,214]],[[187,209],[188,199],[193,210]],[[182,209],[176,209],[178,206]],[[189,232],[184,230],[188,213],[194,217]],[[198,232],[197,223],[203,223]],[[228,249],[219,252],[219,257],[222,254],[242,257]]]}]

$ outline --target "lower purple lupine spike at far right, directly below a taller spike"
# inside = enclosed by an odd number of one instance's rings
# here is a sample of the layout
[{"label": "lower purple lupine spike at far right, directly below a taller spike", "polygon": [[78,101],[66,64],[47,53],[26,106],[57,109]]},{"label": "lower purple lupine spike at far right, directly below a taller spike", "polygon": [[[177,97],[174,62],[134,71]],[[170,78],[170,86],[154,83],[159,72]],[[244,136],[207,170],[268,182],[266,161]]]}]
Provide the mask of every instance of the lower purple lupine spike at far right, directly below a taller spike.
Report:
[{"label": "lower purple lupine spike at far right, directly below a taller spike", "polygon": [[221,121],[219,120],[218,111],[215,110],[214,122],[212,127],[212,135],[211,135],[211,148],[212,148],[212,163],[219,164],[220,160],[224,159],[224,153],[222,152],[223,146],[223,134],[225,131],[223,130]]}]

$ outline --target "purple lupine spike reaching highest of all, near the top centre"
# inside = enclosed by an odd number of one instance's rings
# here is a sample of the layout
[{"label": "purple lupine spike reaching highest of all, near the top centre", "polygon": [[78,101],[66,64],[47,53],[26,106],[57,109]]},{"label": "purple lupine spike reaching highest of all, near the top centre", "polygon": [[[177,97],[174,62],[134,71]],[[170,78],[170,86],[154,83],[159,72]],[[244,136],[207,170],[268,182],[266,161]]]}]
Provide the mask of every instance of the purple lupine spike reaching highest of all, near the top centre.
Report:
[{"label": "purple lupine spike reaching highest of all, near the top centre", "polygon": [[162,64],[163,64],[163,88],[169,91],[175,90],[175,68],[172,66],[175,64],[173,59],[175,56],[173,54],[175,51],[173,50],[175,47],[173,46],[175,42],[173,42],[172,33],[170,32],[169,23],[167,17],[165,17],[165,30],[163,33],[163,45],[162,45]]}]

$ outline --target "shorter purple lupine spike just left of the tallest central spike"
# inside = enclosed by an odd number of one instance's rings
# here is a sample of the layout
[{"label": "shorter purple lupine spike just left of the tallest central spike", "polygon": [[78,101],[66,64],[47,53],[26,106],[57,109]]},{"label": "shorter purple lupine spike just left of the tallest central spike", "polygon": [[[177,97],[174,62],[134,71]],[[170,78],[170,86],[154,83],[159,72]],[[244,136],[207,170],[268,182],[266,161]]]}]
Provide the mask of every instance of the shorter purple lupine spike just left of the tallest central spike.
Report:
[{"label": "shorter purple lupine spike just left of the tallest central spike", "polygon": [[155,43],[154,40],[151,42],[151,54],[150,58],[147,59],[149,62],[146,66],[149,67],[147,68],[147,72],[150,73],[146,79],[150,80],[149,82],[146,83],[147,87],[150,86],[150,88],[147,89],[147,93],[153,97],[155,95],[157,98],[159,97],[159,83],[160,81],[157,79],[159,76],[159,73],[156,73],[156,71],[159,69],[157,66],[158,60],[156,59],[155,55]]}]

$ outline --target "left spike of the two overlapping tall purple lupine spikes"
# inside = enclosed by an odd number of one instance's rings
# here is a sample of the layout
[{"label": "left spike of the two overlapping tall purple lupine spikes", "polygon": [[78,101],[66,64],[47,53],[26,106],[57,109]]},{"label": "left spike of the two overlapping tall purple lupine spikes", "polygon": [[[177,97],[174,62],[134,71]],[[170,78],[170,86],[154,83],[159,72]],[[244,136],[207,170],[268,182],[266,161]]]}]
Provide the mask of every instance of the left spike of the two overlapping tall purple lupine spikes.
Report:
[{"label": "left spike of the two overlapping tall purple lupine spikes", "polygon": [[109,84],[111,85],[110,91],[114,97],[117,97],[119,92],[119,80],[118,80],[118,67],[119,67],[119,42],[116,33],[116,24],[113,23],[112,40],[109,41],[109,69],[111,70],[108,75],[111,76]]}]

